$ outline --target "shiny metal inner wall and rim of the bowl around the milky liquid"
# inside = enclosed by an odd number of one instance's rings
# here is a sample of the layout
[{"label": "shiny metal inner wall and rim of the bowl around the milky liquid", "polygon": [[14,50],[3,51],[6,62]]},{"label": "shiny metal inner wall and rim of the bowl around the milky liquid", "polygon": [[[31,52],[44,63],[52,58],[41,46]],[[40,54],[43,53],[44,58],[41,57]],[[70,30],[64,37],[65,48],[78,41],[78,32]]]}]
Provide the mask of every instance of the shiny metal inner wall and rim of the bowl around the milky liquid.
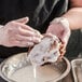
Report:
[{"label": "shiny metal inner wall and rim of the bowl around the milky liquid", "polygon": [[[16,55],[5,59],[3,63],[1,63],[0,76],[8,82],[18,82],[15,79],[12,79],[11,77],[19,70],[23,70],[25,72],[24,68],[26,68],[28,66],[31,66],[31,64],[27,60],[27,54],[26,53],[16,54]],[[60,62],[53,63],[53,64],[45,64],[44,66],[50,66],[57,70],[56,70],[56,74],[54,78],[52,78],[52,74],[50,74],[50,80],[41,81],[41,82],[62,82],[62,80],[65,77],[67,77],[70,71],[70,63],[66,57],[64,57]],[[41,66],[41,67],[44,67],[44,66]],[[46,68],[45,68],[45,70],[46,70]],[[57,72],[58,72],[58,74],[57,74]],[[43,73],[45,74],[45,72],[43,72]],[[22,74],[22,72],[20,72],[20,74]],[[26,72],[25,72],[25,74],[29,76],[29,73],[26,73]],[[25,76],[19,77],[19,79],[22,79],[22,78],[24,79]],[[25,81],[23,81],[23,82],[25,82]],[[33,82],[33,81],[29,81],[29,82]],[[35,82],[39,82],[39,81],[35,81]]]}]

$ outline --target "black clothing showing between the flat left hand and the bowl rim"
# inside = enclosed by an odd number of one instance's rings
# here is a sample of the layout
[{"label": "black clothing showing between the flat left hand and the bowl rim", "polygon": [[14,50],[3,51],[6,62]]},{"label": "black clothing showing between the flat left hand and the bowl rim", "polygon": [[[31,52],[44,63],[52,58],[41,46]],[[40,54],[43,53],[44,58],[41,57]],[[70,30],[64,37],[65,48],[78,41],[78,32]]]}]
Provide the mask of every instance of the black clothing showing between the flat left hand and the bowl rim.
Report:
[{"label": "black clothing showing between the flat left hand and the bowl rim", "polygon": [[6,46],[0,45],[0,58],[6,58],[14,54],[24,53],[24,52],[28,52],[28,49],[27,47],[17,47],[17,46],[6,47]]}]

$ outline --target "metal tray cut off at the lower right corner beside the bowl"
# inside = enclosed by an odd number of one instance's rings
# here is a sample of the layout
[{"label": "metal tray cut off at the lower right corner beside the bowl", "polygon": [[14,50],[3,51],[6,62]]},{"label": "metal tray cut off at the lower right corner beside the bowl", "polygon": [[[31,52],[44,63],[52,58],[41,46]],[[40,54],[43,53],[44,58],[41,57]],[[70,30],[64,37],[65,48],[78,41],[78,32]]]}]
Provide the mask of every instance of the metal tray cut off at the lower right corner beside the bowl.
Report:
[{"label": "metal tray cut off at the lower right corner beside the bowl", "polygon": [[71,60],[74,82],[82,82],[82,58]]}]

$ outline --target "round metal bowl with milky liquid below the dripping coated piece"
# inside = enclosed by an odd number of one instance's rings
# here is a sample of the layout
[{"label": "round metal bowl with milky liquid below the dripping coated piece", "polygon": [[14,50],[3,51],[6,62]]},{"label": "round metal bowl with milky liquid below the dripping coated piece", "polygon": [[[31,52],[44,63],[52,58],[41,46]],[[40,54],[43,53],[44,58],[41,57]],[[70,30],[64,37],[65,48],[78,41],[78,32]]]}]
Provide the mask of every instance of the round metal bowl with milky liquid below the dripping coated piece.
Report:
[{"label": "round metal bowl with milky liquid below the dripping coated piece", "polygon": [[[36,71],[38,71],[40,77],[45,78],[44,80],[41,80],[39,77],[40,81],[35,81],[35,79],[30,79],[30,81],[28,81],[26,79],[30,76],[28,73],[29,70],[27,70],[29,66],[32,65],[28,62],[26,53],[16,54],[1,63],[0,76],[8,82],[62,82],[62,80],[67,77],[70,71],[70,63],[66,57],[64,57],[57,63],[45,64],[37,68]],[[49,68],[50,70],[53,69],[53,71],[49,71]],[[30,70],[32,71],[31,68]],[[19,81],[13,78],[13,76],[15,76],[16,79],[19,78]],[[49,77],[46,78],[46,76]]]}]

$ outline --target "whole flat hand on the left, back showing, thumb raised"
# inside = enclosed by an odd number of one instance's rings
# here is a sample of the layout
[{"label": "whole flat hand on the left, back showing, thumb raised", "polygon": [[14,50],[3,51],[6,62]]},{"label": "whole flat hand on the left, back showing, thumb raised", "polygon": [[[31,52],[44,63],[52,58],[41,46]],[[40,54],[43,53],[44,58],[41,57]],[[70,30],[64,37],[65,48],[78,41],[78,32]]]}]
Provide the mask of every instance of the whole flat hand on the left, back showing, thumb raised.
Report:
[{"label": "whole flat hand on the left, back showing, thumb raised", "polygon": [[4,46],[32,46],[40,42],[41,35],[39,31],[25,25],[28,23],[28,17],[9,22],[0,28],[0,44]]}]

